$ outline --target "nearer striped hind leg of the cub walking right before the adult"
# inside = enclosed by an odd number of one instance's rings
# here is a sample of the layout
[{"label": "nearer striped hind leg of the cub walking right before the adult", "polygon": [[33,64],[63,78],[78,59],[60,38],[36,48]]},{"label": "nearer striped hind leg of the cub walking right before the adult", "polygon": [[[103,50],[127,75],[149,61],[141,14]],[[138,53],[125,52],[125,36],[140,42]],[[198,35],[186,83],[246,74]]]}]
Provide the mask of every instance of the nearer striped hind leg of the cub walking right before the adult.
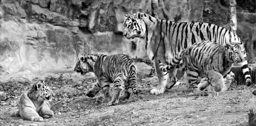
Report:
[{"label": "nearer striped hind leg of the cub walking right before the adult", "polygon": [[200,83],[200,80],[198,78],[199,73],[195,72],[195,71],[186,71],[187,73],[187,81],[189,84],[189,89],[193,90],[193,93],[196,96],[207,96],[208,93],[205,91],[201,91],[201,89],[198,88],[198,84]]}]

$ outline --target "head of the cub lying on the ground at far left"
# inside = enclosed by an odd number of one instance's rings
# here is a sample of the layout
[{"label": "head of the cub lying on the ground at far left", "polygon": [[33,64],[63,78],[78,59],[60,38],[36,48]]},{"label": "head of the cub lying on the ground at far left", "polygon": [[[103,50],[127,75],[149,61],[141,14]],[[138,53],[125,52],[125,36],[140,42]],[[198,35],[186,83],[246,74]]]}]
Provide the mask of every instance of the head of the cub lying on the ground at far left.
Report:
[{"label": "head of the cub lying on the ground at far left", "polygon": [[33,84],[31,91],[28,93],[29,97],[38,102],[51,101],[54,92],[48,87],[43,80]]}]

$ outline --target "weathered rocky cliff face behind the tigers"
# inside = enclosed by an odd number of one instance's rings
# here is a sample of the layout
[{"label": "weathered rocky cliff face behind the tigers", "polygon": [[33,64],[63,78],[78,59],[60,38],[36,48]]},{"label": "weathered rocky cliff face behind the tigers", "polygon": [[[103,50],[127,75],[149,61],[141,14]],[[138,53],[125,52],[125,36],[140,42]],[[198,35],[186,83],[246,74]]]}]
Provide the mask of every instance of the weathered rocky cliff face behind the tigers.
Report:
[{"label": "weathered rocky cliff face behind the tigers", "polygon": [[[82,53],[147,58],[144,41],[122,36],[123,15],[137,11],[150,13],[151,0],[0,0],[1,74],[71,71]],[[159,0],[158,11],[171,21],[206,21],[204,0]]]}]

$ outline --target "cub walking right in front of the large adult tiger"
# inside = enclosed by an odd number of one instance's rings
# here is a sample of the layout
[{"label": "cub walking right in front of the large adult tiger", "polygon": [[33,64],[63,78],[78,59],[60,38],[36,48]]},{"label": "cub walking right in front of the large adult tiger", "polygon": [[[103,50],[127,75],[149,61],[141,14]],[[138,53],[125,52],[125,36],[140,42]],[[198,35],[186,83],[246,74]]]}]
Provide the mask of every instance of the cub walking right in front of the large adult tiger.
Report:
[{"label": "cub walking right in front of the large adult tiger", "polygon": [[[187,73],[186,83],[195,95],[208,95],[202,90],[210,84],[208,89],[215,96],[224,87],[223,75],[230,71],[232,64],[244,61],[242,48],[242,43],[220,45],[200,41],[178,53],[167,66],[159,60],[159,68],[161,71],[169,71],[173,67],[183,69]],[[199,76],[206,77],[209,84],[199,85]]]}]

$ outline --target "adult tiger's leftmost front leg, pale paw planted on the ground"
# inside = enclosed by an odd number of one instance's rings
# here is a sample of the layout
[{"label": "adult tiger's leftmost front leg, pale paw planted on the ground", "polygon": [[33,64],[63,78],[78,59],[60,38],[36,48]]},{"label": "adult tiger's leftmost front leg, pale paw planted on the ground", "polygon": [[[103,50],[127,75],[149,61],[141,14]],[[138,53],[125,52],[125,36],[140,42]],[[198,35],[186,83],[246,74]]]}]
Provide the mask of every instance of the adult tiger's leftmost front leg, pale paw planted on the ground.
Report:
[{"label": "adult tiger's leftmost front leg, pale paw planted on the ground", "polygon": [[[162,60],[162,61],[164,61],[164,60]],[[168,72],[163,72],[163,71],[160,70],[158,60],[153,61],[153,63],[154,63],[154,66],[155,66],[156,75],[158,77],[159,85],[156,88],[152,89],[150,91],[150,93],[151,94],[163,94],[164,90],[166,88],[166,83],[167,83],[167,79],[168,79]]]}]

